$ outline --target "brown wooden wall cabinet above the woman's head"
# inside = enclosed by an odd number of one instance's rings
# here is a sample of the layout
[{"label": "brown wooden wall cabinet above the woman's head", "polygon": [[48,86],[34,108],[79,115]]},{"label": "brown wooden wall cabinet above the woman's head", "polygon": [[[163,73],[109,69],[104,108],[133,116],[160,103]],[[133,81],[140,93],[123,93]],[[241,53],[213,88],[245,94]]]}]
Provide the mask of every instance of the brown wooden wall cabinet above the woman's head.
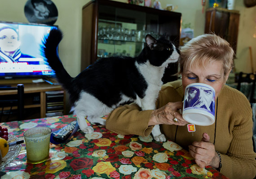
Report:
[{"label": "brown wooden wall cabinet above the woman's head", "polygon": [[204,33],[215,33],[227,40],[236,53],[239,11],[224,8],[209,8],[206,10]]}]

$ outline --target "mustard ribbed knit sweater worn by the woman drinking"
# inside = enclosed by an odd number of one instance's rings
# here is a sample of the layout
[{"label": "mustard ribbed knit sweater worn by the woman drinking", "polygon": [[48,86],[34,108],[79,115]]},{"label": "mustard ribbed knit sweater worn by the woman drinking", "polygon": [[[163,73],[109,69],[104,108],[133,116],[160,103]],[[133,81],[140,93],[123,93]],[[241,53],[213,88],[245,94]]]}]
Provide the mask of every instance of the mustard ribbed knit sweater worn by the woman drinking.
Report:
[{"label": "mustard ribbed knit sweater worn by the woman drinking", "polygon": [[[157,108],[168,102],[183,100],[181,81],[162,86]],[[238,90],[225,85],[216,100],[215,123],[210,126],[195,126],[188,132],[187,126],[160,125],[165,136],[188,149],[193,141],[201,141],[207,132],[210,141],[221,153],[221,173],[230,179],[252,179],[256,175],[256,153],[252,145],[252,108],[247,98]],[[118,107],[106,120],[106,128],[119,134],[148,136],[153,126],[148,126],[152,110],[141,111],[136,104]]]}]

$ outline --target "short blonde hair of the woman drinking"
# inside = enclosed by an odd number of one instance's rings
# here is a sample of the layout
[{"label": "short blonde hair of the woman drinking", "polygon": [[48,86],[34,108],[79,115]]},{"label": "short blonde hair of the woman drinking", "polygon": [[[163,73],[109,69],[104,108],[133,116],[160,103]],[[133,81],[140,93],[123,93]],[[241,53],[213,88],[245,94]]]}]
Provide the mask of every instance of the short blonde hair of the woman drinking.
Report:
[{"label": "short blonde hair of the woman drinking", "polygon": [[181,47],[180,74],[184,68],[202,67],[222,61],[224,76],[233,68],[234,51],[230,44],[215,34],[203,34]]}]

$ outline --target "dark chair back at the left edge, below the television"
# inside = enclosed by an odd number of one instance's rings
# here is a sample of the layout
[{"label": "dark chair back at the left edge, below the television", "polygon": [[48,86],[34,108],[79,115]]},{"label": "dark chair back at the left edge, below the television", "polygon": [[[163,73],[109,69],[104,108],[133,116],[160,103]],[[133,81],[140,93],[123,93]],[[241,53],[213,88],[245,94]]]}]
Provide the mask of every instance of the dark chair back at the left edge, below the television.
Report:
[{"label": "dark chair back at the left edge, below the television", "polygon": [[4,107],[10,107],[9,113],[7,114],[7,121],[9,119],[10,113],[12,112],[12,107],[17,106],[17,118],[18,120],[22,120],[24,114],[24,85],[18,84],[17,87],[0,87],[0,91],[4,90],[15,90],[17,92],[17,96],[14,98],[8,98],[7,100],[0,99],[0,121],[2,121],[2,116],[4,115]]}]

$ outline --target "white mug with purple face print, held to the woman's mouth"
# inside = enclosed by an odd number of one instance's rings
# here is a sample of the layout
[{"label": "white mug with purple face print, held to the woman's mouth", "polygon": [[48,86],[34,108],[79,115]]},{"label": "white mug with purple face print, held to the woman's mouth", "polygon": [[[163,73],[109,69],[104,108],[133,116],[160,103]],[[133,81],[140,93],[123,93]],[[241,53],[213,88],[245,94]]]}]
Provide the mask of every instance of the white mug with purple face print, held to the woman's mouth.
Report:
[{"label": "white mug with purple face print, held to the woman's mouth", "polygon": [[182,117],[189,123],[207,126],[215,121],[215,90],[210,85],[192,83],[185,88]]}]

